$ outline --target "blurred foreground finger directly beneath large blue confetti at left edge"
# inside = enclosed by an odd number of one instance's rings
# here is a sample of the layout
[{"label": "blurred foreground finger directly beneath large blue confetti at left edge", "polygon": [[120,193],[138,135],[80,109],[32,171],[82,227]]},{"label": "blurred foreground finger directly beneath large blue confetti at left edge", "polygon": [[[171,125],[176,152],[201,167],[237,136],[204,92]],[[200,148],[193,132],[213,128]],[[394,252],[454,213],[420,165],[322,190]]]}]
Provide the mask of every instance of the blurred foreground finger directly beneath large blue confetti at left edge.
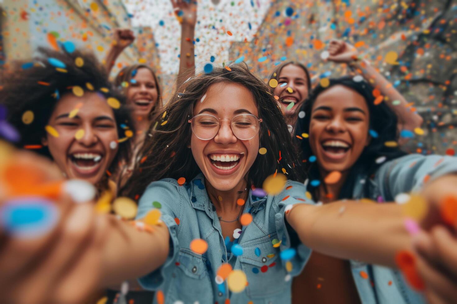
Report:
[{"label": "blurred foreground finger directly beneath large blue confetti at left edge", "polygon": [[37,260],[42,257],[43,252],[47,252],[52,246],[53,241],[58,238],[58,234],[66,221],[73,202],[68,195],[63,195],[58,203],[58,223],[48,232],[33,238],[8,236],[0,252],[0,269],[2,276],[10,277],[13,274],[19,275],[24,269],[30,269],[37,265]]}]

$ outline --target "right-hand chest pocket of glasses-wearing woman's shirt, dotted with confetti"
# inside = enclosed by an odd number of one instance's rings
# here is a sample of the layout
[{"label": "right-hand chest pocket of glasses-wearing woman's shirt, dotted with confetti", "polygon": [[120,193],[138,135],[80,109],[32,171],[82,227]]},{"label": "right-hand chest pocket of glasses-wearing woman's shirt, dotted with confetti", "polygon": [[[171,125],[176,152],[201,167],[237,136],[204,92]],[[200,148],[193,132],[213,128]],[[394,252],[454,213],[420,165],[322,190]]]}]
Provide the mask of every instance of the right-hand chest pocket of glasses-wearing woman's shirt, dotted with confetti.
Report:
[{"label": "right-hand chest pocket of glasses-wearing woman's shirt, dotted with confetti", "polygon": [[275,248],[271,243],[276,235],[275,232],[241,245],[243,255],[239,261],[248,279],[246,293],[250,298],[267,298],[288,288],[284,280],[287,272],[279,258],[279,247]]}]

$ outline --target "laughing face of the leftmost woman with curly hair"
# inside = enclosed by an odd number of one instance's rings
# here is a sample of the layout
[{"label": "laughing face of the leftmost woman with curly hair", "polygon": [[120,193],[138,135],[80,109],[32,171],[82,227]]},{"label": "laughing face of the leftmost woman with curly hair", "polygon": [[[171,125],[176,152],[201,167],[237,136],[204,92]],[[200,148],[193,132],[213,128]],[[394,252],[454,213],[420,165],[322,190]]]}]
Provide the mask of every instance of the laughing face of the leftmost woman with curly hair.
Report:
[{"label": "laughing face of the leftmost woman with curly hair", "polygon": [[[76,108],[78,112],[70,117]],[[91,184],[100,181],[117,153],[116,120],[106,99],[97,93],[85,93],[83,97],[65,94],[48,125],[58,136],[48,133],[43,144],[48,146],[59,169],[71,179]]]}]

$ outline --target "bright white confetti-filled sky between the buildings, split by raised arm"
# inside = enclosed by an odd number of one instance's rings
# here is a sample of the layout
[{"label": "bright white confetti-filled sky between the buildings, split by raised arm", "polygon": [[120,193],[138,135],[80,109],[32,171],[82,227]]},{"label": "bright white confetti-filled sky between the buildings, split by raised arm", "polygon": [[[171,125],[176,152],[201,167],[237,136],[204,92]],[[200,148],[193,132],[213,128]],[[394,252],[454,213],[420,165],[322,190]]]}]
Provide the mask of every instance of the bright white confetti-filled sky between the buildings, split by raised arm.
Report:
[{"label": "bright white confetti-filled sky between the buildings, split by raised arm", "polygon": [[[231,41],[248,41],[257,32],[270,0],[198,0],[195,63],[201,72],[214,56],[214,65],[235,60],[228,58]],[[177,73],[181,26],[176,20],[170,0],[124,0],[127,10],[134,15],[133,26],[151,26],[159,44],[160,65],[165,73]],[[160,26],[159,22],[164,25]],[[200,23],[198,23],[200,21]],[[249,29],[249,24],[251,29]],[[213,28],[214,26],[214,28]],[[233,36],[229,36],[231,31]]]}]

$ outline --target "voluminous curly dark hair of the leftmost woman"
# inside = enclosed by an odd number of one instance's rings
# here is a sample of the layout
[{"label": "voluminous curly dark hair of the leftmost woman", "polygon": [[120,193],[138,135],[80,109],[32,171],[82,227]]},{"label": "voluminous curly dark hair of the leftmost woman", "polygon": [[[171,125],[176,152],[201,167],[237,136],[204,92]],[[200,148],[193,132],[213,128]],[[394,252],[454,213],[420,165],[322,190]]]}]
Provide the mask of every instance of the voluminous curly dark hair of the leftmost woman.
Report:
[{"label": "voluminous curly dark hair of the leftmost woman", "polygon": [[[125,98],[108,81],[104,68],[93,53],[80,50],[71,53],[65,50],[59,52],[42,47],[37,51],[36,58],[26,62],[14,62],[15,68],[8,73],[9,77],[2,80],[4,88],[0,94],[0,104],[8,109],[7,120],[21,135],[21,139],[16,143],[18,147],[42,143],[42,139],[46,137],[45,126],[58,103],[56,92],[63,96],[70,93],[74,86],[86,88],[86,83],[90,83],[93,91],[104,98],[116,98],[121,103],[120,108],[113,109],[117,134],[122,137],[126,129],[135,134]],[[80,59],[76,60],[77,58]],[[56,69],[55,59],[64,64],[64,71]],[[78,66],[76,61],[81,59],[83,65]],[[28,110],[34,113],[34,119],[31,124],[24,124],[22,114]],[[118,153],[108,168],[110,172],[117,171],[120,160],[128,160],[131,155],[130,146],[129,141],[119,144]],[[34,151],[52,159],[46,146]],[[107,181],[108,177],[105,176],[100,186],[106,188]]]}]

